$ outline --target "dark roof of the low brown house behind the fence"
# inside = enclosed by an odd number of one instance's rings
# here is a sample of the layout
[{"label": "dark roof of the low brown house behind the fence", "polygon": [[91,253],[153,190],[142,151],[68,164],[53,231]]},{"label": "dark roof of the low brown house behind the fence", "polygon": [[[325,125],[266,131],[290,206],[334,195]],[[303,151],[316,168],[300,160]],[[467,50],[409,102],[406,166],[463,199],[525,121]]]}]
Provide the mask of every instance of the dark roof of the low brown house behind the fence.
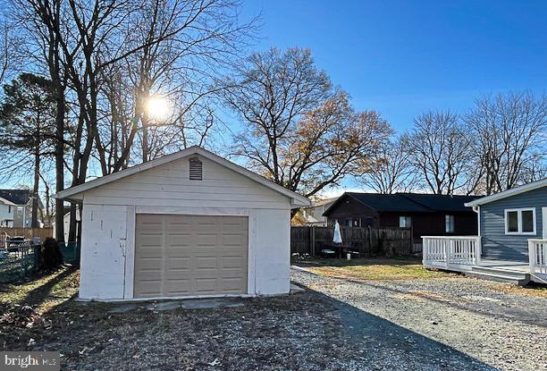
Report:
[{"label": "dark roof of the low brown house behind the fence", "polygon": [[346,192],[338,198],[324,215],[340,204],[341,199],[350,197],[378,213],[433,213],[470,211],[465,203],[476,198],[475,196],[448,196],[430,195],[423,193],[395,193],[384,195],[380,193]]}]

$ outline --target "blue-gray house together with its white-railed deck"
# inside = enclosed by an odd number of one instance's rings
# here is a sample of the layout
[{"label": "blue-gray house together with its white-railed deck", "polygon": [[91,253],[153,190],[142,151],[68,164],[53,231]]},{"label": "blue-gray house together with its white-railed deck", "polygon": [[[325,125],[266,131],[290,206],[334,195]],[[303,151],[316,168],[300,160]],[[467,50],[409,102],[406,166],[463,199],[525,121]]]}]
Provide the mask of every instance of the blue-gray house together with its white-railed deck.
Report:
[{"label": "blue-gray house together with its white-railed deck", "polygon": [[478,235],[422,236],[426,268],[547,283],[547,178],[466,206],[477,213]]}]

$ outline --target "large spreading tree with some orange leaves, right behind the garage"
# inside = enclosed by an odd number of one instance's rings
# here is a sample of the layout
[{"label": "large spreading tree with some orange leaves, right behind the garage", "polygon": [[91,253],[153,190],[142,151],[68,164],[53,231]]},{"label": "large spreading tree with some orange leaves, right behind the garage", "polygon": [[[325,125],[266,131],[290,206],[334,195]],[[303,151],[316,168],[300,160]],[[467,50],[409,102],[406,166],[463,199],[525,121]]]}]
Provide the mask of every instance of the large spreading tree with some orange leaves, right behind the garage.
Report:
[{"label": "large spreading tree with some orange leaves, right behind the garage", "polygon": [[251,55],[224,101],[245,122],[233,154],[306,196],[358,171],[390,133],[374,111],[356,113],[306,49]]}]

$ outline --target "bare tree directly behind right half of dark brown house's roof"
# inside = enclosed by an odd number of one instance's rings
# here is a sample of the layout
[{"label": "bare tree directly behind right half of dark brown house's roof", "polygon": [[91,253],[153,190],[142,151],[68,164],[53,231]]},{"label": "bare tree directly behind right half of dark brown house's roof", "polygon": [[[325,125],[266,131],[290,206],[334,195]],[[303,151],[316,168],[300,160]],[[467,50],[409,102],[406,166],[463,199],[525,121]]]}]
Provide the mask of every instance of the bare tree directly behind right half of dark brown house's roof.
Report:
[{"label": "bare tree directly behind right half of dark brown house's roof", "polygon": [[408,150],[412,164],[434,194],[467,190],[469,143],[458,114],[446,111],[417,116],[408,136]]}]

